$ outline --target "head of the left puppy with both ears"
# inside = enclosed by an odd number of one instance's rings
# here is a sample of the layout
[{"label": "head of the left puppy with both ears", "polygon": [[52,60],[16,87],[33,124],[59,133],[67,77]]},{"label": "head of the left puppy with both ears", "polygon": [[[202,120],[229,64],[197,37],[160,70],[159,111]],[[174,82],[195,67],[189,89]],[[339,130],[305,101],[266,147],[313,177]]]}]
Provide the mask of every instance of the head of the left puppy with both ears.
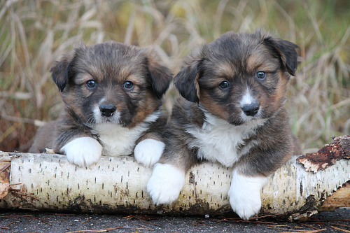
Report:
[{"label": "head of the left puppy with both ears", "polygon": [[51,72],[66,109],[90,127],[134,127],[160,108],[172,78],[152,50],[113,41],[80,45]]}]

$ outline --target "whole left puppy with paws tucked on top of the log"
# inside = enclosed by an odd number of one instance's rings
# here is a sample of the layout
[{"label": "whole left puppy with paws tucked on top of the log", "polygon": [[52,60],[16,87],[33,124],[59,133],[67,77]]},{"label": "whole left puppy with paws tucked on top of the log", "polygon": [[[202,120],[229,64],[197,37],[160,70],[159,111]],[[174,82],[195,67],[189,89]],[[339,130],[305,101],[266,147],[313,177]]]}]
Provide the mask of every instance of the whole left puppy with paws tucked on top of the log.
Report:
[{"label": "whole left puppy with paws tucked on top of the log", "polygon": [[79,167],[90,167],[102,155],[134,153],[145,166],[159,160],[167,121],[161,99],[172,73],[153,50],[114,41],[80,45],[51,72],[64,111],[39,129],[30,153],[53,148]]}]

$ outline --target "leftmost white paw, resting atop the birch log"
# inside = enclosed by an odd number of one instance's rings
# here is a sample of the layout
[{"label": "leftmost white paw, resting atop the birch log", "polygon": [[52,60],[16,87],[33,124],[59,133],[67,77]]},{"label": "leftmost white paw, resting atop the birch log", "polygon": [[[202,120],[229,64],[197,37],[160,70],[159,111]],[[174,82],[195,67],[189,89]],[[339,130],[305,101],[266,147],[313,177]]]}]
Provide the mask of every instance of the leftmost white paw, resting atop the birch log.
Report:
[{"label": "leftmost white paw, resting atop the birch log", "polygon": [[61,151],[66,154],[71,164],[88,168],[99,161],[102,155],[102,146],[97,140],[84,136],[66,143]]}]

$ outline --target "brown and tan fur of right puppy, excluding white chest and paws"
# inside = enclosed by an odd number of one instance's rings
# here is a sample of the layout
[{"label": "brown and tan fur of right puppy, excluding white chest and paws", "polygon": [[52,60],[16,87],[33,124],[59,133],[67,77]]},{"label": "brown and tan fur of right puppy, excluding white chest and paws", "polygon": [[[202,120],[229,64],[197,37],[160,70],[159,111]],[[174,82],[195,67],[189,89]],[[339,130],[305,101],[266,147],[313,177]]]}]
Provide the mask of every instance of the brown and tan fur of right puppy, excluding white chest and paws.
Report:
[{"label": "brown and tan fur of right puppy, excluding white chest and paws", "polygon": [[[241,118],[244,113],[240,105],[247,88],[261,109],[260,115],[249,119],[265,119],[266,122],[256,131],[252,130],[239,145],[241,151],[251,141],[257,143],[235,167],[247,176],[269,176],[293,151],[299,153],[300,143],[291,134],[288,114],[283,107],[288,80],[297,66],[295,48],[293,43],[264,31],[255,34],[230,31],[191,52],[174,78],[176,88],[187,101],[182,99],[174,105],[162,163],[187,169],[200,162],[193,146],[184,148],[183,145],[195,141],[193,135],[184,131],[189,127],[200,129],[202,125],[194,122],[205,122],[204,112],[237,127],[247,125],[249,120]],[[264,80],[256,77],[258,71],[266,73]],[[227,90],[219,87],[223,81],[230,83]]]}]

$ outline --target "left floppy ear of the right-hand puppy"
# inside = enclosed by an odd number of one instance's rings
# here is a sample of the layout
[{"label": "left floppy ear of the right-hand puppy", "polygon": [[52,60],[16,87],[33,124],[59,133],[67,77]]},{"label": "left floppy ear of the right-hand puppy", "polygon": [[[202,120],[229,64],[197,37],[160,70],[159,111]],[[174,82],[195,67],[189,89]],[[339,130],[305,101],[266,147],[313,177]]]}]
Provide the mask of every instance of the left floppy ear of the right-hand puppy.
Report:
[{"label": "left floppy ear of the right-hand puppy", "polygon": [[200,101],[200,88],[198,78],[200,77],[200,64],[202,48],[194,50],[184,62],[185,65],[174,78],[174,85],[181,96],[188,101],[198,103]]}]

